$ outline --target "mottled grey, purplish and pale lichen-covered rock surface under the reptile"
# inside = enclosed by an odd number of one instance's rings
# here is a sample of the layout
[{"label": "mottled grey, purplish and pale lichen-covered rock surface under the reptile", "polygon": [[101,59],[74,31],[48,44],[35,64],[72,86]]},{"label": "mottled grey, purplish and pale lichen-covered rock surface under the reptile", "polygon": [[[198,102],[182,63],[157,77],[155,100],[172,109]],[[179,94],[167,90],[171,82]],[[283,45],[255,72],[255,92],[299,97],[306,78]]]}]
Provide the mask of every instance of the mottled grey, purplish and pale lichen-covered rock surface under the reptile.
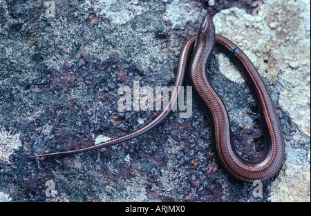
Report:
[{"label": "mottled grey, purplish and pale lichen-covered rock surface under the reptile", "polygon": [[[0,0],[0,202],[310,201],[310,1],[265,1],[261,17],[253,2]],[[220,166],[195,98],[190,118],[174,111],[124,144],[28,159],[120,137],[156,117],[117,110],[117,90],[173,85],[182,43],[205,13],[252,59],[281,119],[285,163],[262,197]],[[209,77],[238,153],[260,157],[260,123],[249,115],[258,107],[243,75],[215,50]]]}]

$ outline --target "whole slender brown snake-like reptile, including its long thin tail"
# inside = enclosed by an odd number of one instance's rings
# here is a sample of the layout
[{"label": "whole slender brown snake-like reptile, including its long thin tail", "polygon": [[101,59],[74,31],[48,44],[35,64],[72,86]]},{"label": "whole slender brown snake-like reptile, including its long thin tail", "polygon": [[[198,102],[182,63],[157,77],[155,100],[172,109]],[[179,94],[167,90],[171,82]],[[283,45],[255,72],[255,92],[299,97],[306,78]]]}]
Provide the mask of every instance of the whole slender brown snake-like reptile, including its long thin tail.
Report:
[{"label": "whole slender brown snake-like reptile, including its long thin tail", "polygon": [[[258,101],[260,102],[261,119],[263,121],[263,130],[265,131],[265,150],[262,157],[256,161],[247,161],[236,153],[236,150],[232,145],[230,121],[227,110],[223,101],[217,95],[207,78],[207,64],[209,63],[209,58],[211,57],[215,45],[219,46],[225,52],[228,52],[229,55],[231,55],[232,58],[234,58],[234,60],[245,69],[246,75],[252,83]],[[82,153],[88,150],[95,150],[97,148],[119,144],[151,130],[151,128],[157,126],[165,117],[167,117],[171,106],[176,103],[177,96],[180,92],[180,88],[178,87],[182,86],[184,82],[187,63],[190,64],[191,83],[200,96],[200,101],[205,104],[206,111],[209,114],[218,157],[223,166],[234,177],[242,181],[263,181],[272,177],[283,163],[285,149],[283,132],[273,101],[263,80],[260,75],[258,75],[256,68],[254,68],[252,62],[249,61],[242,50],[225,37],[215,34],[214,23],[209,15],[206,15],[203,19],[198,34],[188,39],[182,46],[175,81],[176,90],[173,90],[167,107],[160,112],[156,119],[153,119],[153,121],[147,124],[147,126],[144,126],[140,130],[132,132],[129,135],[111,139],[110,141],[97,144],[96,146],[59,153],[36,155],[34,157]]]}]

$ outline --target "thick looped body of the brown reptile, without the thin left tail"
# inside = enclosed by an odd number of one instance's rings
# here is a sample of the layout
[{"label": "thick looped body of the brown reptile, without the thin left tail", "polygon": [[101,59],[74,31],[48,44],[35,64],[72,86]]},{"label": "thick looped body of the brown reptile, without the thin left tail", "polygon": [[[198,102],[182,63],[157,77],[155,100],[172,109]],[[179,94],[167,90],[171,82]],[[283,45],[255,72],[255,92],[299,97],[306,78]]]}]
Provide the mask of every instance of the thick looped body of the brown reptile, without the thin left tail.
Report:
[{"label": "thick looped body of the brown reptile, without the thin left tail", "polygon": [[[223,166],[234,177],[242,181],[263,181],[272,177],[283,163],[284,141],[279,117],[276,114],[270,94],[252,62],[234,43],[221,35],[215,35],[214,23],[212,23],[211,19],[208,19],[208,21],[211,22],[208,31],[204,32],[202,30],[202,33],[200,29],[196,37],[196,45],[193,57],[191,57],[191,81],[208,109],[218,157]],[[203,34],[207,36],[203,37]],[[232,145],[227,110],[208,81],[207,63],[215,44],[229,53],[242,66],[260,102],[265,150],[261,158],[256,161],[247,161],[236,153]]]}]

